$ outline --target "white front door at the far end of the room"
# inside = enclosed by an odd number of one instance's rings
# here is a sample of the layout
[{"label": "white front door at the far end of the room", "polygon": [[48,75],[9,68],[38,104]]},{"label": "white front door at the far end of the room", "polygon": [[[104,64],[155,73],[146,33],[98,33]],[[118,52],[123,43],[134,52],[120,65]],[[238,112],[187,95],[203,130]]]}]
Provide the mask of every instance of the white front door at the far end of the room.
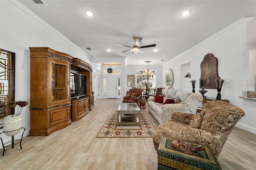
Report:
[{"label": "white front door at the far end of the room", "polygon": [[107,98],[117,98],[117,77],[107,77]]}]

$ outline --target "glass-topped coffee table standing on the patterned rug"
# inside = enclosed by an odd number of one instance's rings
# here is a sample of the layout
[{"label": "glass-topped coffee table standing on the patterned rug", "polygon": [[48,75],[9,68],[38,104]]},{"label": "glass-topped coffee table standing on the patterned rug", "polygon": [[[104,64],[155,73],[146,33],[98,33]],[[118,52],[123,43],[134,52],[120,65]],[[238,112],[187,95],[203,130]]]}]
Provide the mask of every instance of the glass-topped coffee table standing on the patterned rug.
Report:
[{"label": "glass-topped coffee table standing on the patterned rug", "polygon": [[[140,125],[140,107],[137,103],[120,103],[117,110],[116,125]],[[135,119],[122,119],[122,115],[138,115]]]}]

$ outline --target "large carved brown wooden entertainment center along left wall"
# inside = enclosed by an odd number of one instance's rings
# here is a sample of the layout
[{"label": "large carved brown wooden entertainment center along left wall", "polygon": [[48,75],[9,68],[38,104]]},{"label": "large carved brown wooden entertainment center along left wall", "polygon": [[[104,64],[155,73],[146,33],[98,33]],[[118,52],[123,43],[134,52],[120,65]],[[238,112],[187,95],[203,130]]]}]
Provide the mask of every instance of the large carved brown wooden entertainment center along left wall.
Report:
[{"label": "large carved brown wooden entertainment center along left wall", "polygon": [[[47,136],[92,110],[92,67],[49,47],[30,49],[30,132]],[[86,75],[86,94],[70,99],[70,71]],[[72,106],[72,109],[71,109]]]}]

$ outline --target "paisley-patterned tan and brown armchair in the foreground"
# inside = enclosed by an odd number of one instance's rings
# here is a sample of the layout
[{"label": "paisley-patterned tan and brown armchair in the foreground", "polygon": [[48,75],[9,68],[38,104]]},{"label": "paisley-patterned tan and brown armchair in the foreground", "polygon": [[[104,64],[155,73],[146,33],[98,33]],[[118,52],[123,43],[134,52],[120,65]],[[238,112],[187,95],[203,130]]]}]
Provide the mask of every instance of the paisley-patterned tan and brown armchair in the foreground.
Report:
[{"label": "paisley-patterned tan and brown armchair in the foreground", "polygon": [[162,136],[207,145],[218,159],[231,130],[244,116],[244,111],[224,101],[208,103],[201,113],[174,112],[172,120],[161,123],[154,134],[158,150]]}]

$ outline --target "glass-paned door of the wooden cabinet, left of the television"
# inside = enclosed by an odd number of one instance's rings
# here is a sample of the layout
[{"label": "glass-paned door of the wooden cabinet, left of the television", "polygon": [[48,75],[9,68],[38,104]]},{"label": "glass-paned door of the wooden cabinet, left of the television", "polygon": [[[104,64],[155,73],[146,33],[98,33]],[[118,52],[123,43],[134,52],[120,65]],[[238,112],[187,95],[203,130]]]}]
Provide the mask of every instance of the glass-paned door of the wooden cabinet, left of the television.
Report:
[{"label": "glass-paned door of the wooden cabinet, left of the television", "polygon": [[68,99],[68,65],[52,62],[52,101]]}]

